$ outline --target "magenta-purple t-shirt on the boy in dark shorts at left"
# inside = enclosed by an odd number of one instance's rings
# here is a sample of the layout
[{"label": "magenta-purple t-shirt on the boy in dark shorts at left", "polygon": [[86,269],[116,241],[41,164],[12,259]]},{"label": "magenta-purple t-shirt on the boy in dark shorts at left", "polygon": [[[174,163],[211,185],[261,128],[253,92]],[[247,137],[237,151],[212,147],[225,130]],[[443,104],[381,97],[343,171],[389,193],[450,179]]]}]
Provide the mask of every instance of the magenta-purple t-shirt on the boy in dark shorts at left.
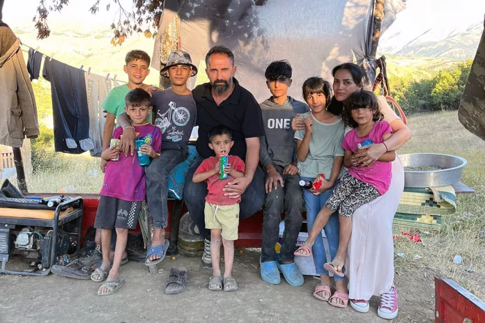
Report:
[{"label": "magenta-purple t-shirt on the boy in dark shorts at left", "polygon": [[[155,152],[160,153],[162,146],[160,128],[149,123],[134,125],[134,133],[137,138],[145,137],[145,142],[150,144]],[[117,127],[114,129],[113,139],[120,139],[122,134],[123,128]],[[100,195],[129,202],[141,202],[145,200],[145,192],[145,170],[140,166],[136,153],[134,156],[125,157],[121,152],[118,161],[108,161]]]}]

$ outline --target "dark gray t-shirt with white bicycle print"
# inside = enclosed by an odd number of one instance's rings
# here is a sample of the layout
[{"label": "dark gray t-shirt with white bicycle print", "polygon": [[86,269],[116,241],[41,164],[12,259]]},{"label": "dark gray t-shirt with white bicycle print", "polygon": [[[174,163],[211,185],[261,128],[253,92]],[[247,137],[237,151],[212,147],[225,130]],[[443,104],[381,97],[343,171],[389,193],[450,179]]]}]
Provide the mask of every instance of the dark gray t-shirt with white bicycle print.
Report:
[{"label": "dark gray t-shirt with white bicycle print", "polygon": [[197,108],[192,94],[180,95],[171,88],[152,92],[151,104],[155,125],[162,131],[162,150],[189,143],[197,120]]}]

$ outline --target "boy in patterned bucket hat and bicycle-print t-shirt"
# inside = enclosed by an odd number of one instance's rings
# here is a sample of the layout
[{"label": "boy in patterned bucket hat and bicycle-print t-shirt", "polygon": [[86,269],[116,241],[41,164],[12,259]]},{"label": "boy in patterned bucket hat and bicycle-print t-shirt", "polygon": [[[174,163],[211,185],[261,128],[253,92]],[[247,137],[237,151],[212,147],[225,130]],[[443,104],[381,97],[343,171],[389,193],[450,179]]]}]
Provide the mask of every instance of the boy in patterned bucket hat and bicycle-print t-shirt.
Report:
[{"label": "boy in patterned bucket hat and bicycle-print t-shirt", "polygon": [[152,93],[151,104],[155,114],[155,125],[162,132],[162,152],[146,168],[146,198],[148,210],[153,217],[153,237],[151,249],[147,251],[145,265],[161,262],[169,246],[165,241],[164,228],[167,227],[169,171],[188,157],[188,143],[192,128],[197,120],[192,91],[187,88],[187,80],[197,74],[190,55],[183,51],[171,52],[160,74],[169,77],[170,88]]}]

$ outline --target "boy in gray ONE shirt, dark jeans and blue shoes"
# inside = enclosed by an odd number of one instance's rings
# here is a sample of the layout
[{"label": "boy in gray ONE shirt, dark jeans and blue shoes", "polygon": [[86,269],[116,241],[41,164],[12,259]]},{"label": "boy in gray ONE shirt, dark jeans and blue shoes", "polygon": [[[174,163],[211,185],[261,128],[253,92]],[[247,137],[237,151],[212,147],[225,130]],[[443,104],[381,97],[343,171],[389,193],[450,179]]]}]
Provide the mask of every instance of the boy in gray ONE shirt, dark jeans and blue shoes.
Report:
[{"label": "boy in gray ONE shirt, dark jeans and blue shoes", "polygon": [[[260,104],[265,131],[265,136],[260,138],[260,161],[265,170],[266,189],[260,262],[261,278],[266,283],[278,284],[281,270],[290,285],[300,286],[303,276],[295,265],[293,253],[302,226],[303,196],[291,120],[297,113],[309,111],[309,107],[288,96],[291,72],[287,61],[272,62],[265,72],[272,96]],[[277,254],[275,244],[284,208],[285,228]]]}]

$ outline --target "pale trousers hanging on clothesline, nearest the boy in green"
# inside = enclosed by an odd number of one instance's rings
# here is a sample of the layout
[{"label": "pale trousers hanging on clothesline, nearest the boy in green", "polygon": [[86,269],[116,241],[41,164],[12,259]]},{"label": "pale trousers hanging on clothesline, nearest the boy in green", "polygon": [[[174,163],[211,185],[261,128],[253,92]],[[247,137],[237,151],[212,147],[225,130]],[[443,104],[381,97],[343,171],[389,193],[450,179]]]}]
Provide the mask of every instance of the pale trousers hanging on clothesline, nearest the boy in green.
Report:
[{"label": "pale trousers hanging on clothesline, nearest the boy in green", "polygon": [[100,75],[86,74],[86,90],[89,109],[89,138],[93,141],[94,148],[89,152],[93,157],[101,157],[102,132],[105,129],[106,112],[101,104],[111,91],[111,79]]}]

